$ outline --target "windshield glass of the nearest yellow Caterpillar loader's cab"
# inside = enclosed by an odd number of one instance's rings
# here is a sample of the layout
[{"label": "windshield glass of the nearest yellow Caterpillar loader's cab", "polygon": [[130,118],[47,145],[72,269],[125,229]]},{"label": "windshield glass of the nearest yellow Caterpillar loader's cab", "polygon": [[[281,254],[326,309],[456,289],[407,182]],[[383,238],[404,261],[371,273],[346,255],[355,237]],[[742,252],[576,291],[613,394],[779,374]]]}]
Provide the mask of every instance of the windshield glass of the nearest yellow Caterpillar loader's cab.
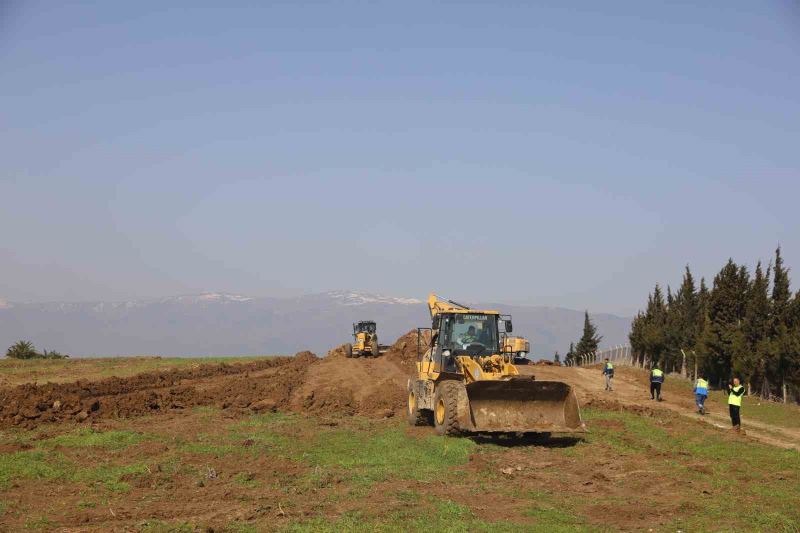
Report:
[{"label": "windshield glass of the nearest yellow Caterpillar loader's cab", "polygon": [[445,318],[442,348],[452,355],[491,355],[498,352],[497,316],[454,314]]}]

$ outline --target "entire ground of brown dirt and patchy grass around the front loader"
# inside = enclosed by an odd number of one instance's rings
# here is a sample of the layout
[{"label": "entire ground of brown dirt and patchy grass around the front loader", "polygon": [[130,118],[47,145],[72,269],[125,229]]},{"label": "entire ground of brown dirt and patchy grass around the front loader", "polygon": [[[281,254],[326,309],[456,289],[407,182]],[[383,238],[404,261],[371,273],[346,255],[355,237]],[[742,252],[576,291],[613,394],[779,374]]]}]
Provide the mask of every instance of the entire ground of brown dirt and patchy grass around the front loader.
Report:
[{"label": "entire ground of brown dirt and patchy grass around the front loader", "polygon": [[700,417],[677,378],[536,365],[584,438],[443,438],[404,420],[415,353],[0,366],[0,530],[797,531],[793,407],[748,398],[735,435],[722,393]]}]

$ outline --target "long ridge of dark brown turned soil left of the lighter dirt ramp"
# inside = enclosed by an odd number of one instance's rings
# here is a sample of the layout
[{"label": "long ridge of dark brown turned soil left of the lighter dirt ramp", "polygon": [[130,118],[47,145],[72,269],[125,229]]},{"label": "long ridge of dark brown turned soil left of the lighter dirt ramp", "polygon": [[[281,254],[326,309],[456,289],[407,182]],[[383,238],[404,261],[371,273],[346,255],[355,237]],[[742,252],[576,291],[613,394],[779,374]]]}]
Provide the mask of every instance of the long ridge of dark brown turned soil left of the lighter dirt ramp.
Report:
[{"label": "long ridge of dark brown turned soil left of the lighter dirt ramp", "polygon": [[[310,352],[246,364],[210,364],[100,381],[20,385],[0,390],[0,427],[43,422],[126,418],[198,405],[287,406],[293,390],[317,362]],[[264,403],[261,404],[264,406]]]}]

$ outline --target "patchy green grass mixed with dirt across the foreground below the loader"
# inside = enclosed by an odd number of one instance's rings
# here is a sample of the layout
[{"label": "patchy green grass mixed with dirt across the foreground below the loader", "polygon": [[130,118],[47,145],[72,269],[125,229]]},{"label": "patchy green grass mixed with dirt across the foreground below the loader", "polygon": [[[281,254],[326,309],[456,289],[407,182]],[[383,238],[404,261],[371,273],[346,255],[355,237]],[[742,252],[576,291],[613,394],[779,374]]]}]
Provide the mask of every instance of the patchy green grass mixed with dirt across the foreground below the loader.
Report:
[{"label": "patchy green grass mixed with dirt across the foreground below the loader", "polygon": [[[205,410],[192,413],[196,421],[218,415]],[[583,416],[590,429],[584,440],[549,448],[443,438],[432,429],[409,431],[402,420],[316,420],[281,413],[238,421],[220,417],[219,422],[198,423],[199,433],[175,438],[160,435],[157,427],[148,427],[153,433],[81,428],[44,439],[44,434],[35,431],[8,431],[0,441],[34,448],[0,455],[0,491],[8,491],[14,483],[23,489],[41,484],[48,490],[74,494],[74,510],[99,509],[107,502],[130,498],[126,493],[133,491],[137,505],[146,511],[149,501],[181,497],[174,493],[174,486],[162,486],[161,481],[183,479],[194,487],[193,480],[205,480],[207,468],[213,467],[220,474],[214,483],[230,498],[252,502],[262,490],[279,494],[286,514],[278,523],[294,520],[285,526],[286,531],[608,531],[614,528],[604,524],[614,523],[613,517],[609,522],[598,518],[597,504],[602,502],[610,512],[616,508],[625,512],[633,498],[656,513],[665,509],[657,514],[659,521],[647,525],[655,531],[726,531],[731,520],[748,530],[798,531],[800,453],[668,412],[651,417],[588,408]],[[156,440],[164,448],[134,447],[147,440]],[[270,466],[259,469],[265,455],[271,456]],[[220,460],[224,457],[229,462]],[[558,466],[533,470],[543,463],[573,461],[577,468],[567,472],[559,472]],[[581,482],[593,479],[594,469],[604,468],[598,467],[598,463],[607,464],[603,461],[611,461],[612,466],[605,471],[608,478],[595,486],[604,486],[608,493],[563,490],[566,478],[561,476],[571,476],[580,489]],[[151,472],[147,464],[159,468]],[[508,464],[521,464],[523,470],[511,478],[500,474],[500,467]],[[669,501],[662,501],[658,492],[637,492],[641,476],[626,477],[626,469],[641,469],[637,471],[668,480],[673,487]],[[685,493],[674,489],[675,480],[685,484]],[[152,487],[141,501],[142,492],[132,489],[139,481]],[[0,496],[9,499],[6,493]],[[376,496],[380,505],[365,505]],[[509,520],[483,514],[480,509],[487,505],[507,505]],[[29,529],[50,529],[69,521],[57,515],[19,513],[13,508],[3,513],[0,502],[0,529],[6,520],[17,520],[14,529],[19,530],[26,517],[24,527]],[[234,516],[229,515],[227,520],[232,521],[223,531],[276,527],[271,515],[259,516],[255,522],[234,520]],[[206,525],[150,520],[137,527],[157,532]],[[213,525],[219,530],[219,524]]]}]

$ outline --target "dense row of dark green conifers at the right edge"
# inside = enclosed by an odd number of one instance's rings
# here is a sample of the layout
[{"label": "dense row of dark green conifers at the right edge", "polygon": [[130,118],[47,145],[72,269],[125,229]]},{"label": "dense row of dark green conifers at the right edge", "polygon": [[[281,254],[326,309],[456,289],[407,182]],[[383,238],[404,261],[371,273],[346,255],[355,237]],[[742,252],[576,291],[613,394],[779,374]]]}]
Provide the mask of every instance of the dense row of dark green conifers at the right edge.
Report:
[{"label": "dense row of dark green conifers at the right edge", "polygon": [[667,372],[705,376],[723,386],[734,377],[748,393],[798,399],[800,391],[800,291],[792,294],[781,249],[753,275],[733,259],[697,287],[689,266],[677,292],[659,284],[629,335],[634,362]]}]

